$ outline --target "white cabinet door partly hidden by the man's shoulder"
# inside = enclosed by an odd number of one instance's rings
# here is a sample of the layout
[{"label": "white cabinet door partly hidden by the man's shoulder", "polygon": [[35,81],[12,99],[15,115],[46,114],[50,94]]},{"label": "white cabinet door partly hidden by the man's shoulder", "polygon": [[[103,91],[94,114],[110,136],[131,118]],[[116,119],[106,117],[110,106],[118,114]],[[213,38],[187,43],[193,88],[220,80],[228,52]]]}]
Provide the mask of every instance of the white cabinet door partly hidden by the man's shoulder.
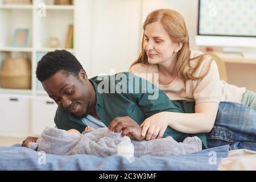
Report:
[{"label": "white cabinet door partly hidden by the man's shoulder", "polygon": [[55,127],[57,104],[49,97],[34,97],[32,101],[32,134],[40,135],[46,126]]}]

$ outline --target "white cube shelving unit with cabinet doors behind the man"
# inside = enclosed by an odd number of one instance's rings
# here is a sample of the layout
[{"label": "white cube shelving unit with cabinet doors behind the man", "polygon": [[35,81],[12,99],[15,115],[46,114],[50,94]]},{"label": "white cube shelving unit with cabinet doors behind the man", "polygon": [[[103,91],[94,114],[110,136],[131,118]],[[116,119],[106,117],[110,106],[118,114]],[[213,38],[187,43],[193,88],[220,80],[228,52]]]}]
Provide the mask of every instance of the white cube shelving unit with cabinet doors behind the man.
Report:
[{"label": "white cube shelving unit with cabinet doors behind the man", "polygon": [[[46,9],[39,6],[42,3]],[[42,10],[45,16],[39,13]],[[73,24],[76,34],[75,11],[76,0],[72,1],[72,5],[54,5],[54,0],[33,0],[32,5],[5,5],[5,1],[0,0],[0,68],[3,60],[17,55],[28,58],[32,68],[29,90],[2,88],[0,82],[0,112],[3,115],[0,136],[39,135],[44,127],[54,126],[57,105],[36,80],[36,64],[49,51],[67,49],[64,44],[69,24]],[[29,29],[27,47],[11,46],[15,28]],[[59,39],[59,47],[48,46],[50,37]],[[67,49],[74,54],[76,37],[73,38],[73,48]],[[19,112],[14,113],[14,109]]]}]

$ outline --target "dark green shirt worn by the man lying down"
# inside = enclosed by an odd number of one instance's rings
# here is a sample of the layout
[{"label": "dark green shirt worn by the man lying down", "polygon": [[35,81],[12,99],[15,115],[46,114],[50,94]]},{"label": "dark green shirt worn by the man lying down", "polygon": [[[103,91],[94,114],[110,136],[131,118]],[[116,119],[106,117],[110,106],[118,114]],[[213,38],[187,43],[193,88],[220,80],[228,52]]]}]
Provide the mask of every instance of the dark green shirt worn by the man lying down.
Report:
[{"label": "dark green shirt worn by the man lying down", "polygon": [[[114,118],[129,116],[141,125],[144,119],[162,111],[194,113],[195,102],[171,101],[157,86],[131,73],[117,73],[112,76],[98,76],[89,79],[96,91],[96,113],[109,126]],[[55,124],[59,129],[84,131],[82,118],[76,117],[58,107]],[[177,142],[194,135],[180,133],[167,127],[163,137],[171,136]],[[207,147],[205,134],[196,134]]]}]

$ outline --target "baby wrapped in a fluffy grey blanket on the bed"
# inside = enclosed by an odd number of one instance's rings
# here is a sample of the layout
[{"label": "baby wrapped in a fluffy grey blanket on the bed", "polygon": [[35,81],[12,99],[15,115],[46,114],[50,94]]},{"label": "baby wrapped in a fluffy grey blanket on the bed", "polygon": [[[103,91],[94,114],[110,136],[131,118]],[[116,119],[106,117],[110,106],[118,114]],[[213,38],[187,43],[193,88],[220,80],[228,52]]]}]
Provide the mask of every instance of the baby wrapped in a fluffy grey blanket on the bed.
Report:
[{"label": "baby wrapped in a fluffy grey blanket on the bed", "polygon": [[[75,129],[66,131],[46,127],[36,143],[30,143],[28,147],[47,154],[88,154],[106,157],[117,154],[117,145],[121,139],[121,133],[108,132],[107,127],[86,127],[82,134]],[[182,143],[176,142],[172,137],[149,141],[132,139],[131,142],[134,144],[135,157],[191,154],[202,148],[198,137],[185,138]]]}]

